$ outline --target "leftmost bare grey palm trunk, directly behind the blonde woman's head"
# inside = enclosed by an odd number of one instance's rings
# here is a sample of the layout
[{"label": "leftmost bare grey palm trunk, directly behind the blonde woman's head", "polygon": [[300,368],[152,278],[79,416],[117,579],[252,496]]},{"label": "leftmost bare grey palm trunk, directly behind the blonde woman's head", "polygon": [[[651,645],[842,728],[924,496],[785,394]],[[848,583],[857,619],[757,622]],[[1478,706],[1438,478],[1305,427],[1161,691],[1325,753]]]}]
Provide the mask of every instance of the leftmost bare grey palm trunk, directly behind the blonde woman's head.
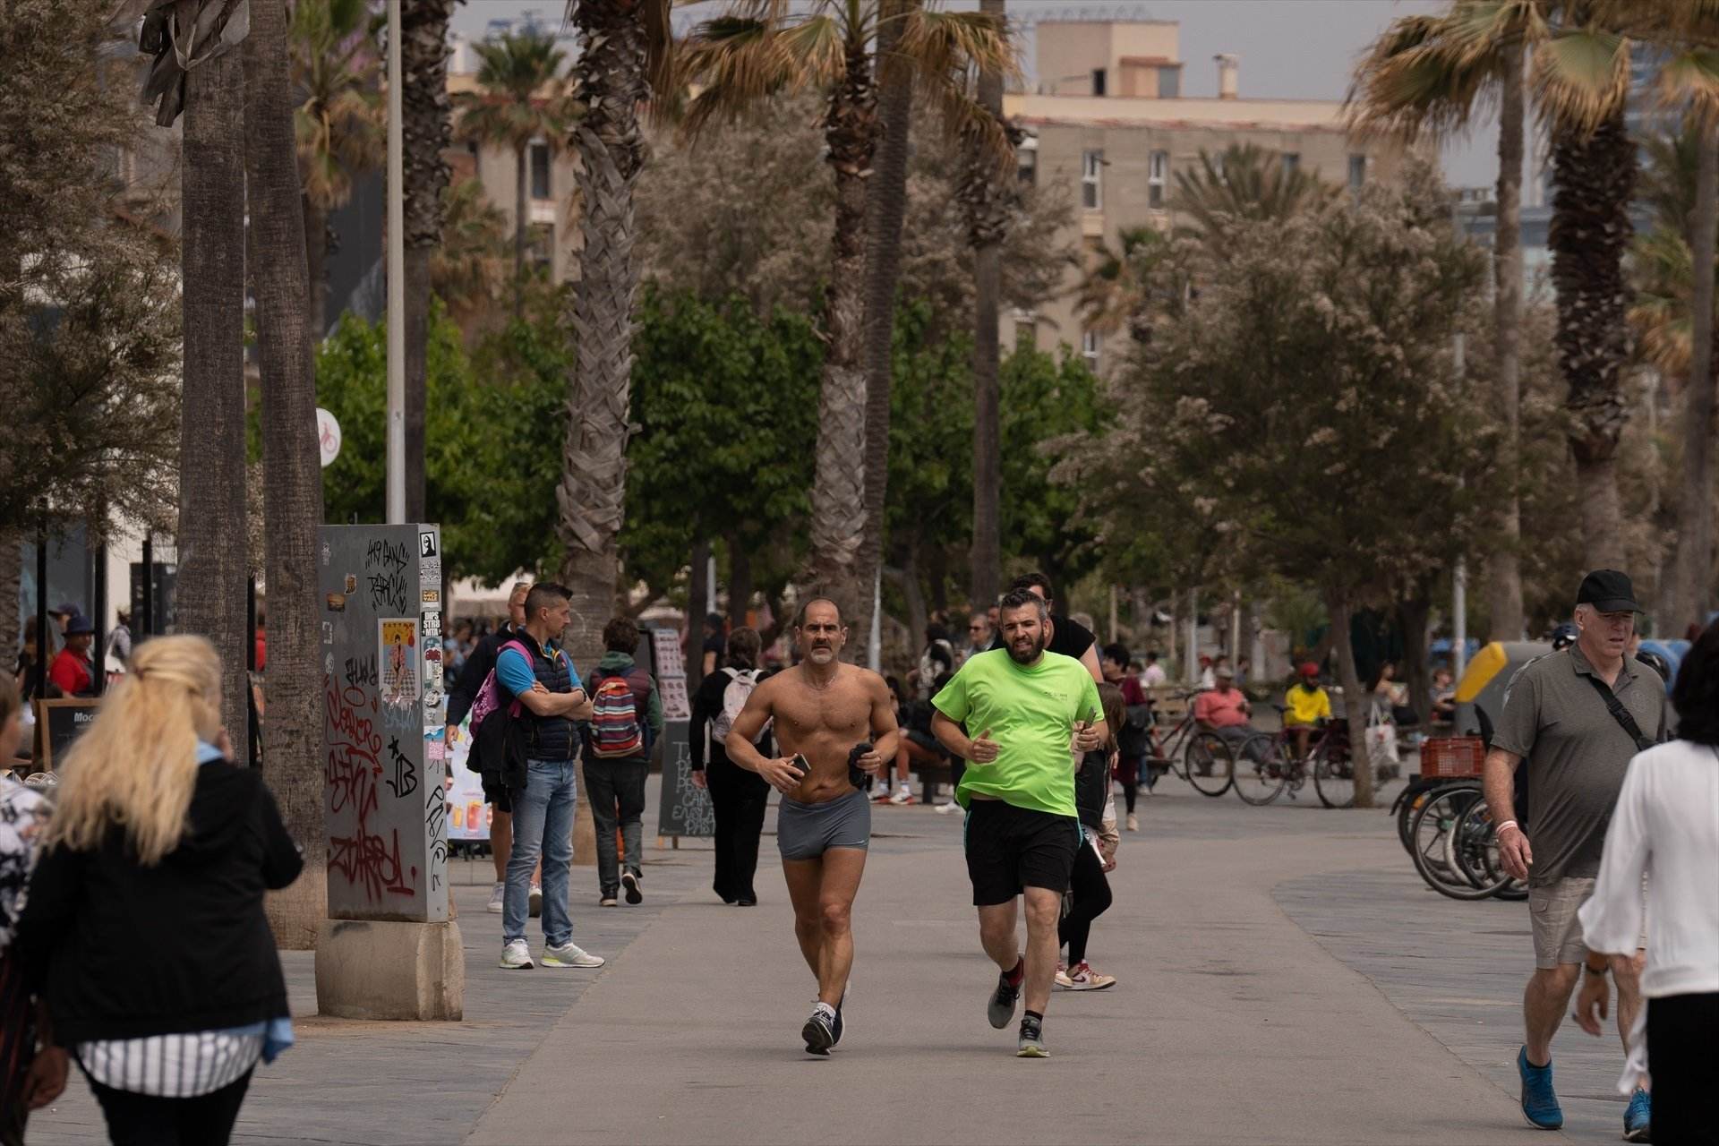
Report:
[{"label": "leftmost bare grey palm trunk, directly behind the blonde woman's head", "polygon": [[[237,52],[189,74],[184,170],[186,363],[179,457],[180,632],[222,656],[222,723],[236,741],[246,703],[244,483],[244,69]],[[320,725],[318,725],[320,727]]]}]

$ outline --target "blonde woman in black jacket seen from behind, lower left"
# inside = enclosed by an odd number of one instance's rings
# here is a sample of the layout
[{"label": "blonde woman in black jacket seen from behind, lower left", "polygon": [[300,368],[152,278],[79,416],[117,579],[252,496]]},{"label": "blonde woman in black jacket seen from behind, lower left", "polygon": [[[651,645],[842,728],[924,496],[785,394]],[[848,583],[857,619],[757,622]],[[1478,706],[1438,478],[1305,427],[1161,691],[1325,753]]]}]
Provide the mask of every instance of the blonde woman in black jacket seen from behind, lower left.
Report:
[{"label": "blonde woman in black jacket seen from behind, lower left", "polygon": [[258,1058],[292,1043],[263,892],[303,861],[261,777],[230,763],[220,682],[203,637],[138,646],[67,753],[19,926],[26,981],[119,1144],[225,1143]]}]

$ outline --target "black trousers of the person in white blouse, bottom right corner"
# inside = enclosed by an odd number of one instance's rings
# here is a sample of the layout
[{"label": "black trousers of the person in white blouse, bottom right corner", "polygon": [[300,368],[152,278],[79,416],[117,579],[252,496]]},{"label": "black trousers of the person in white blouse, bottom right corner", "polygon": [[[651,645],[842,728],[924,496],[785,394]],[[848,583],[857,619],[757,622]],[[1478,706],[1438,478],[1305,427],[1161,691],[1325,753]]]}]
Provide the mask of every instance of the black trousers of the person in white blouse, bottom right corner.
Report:
[{"label": "black trousers of the person in white blouse, bottom right corner", "polygon": [[1647,1000],[1647,1070],[1654,1076],[1654,1143],[1712,1146],[1712,1084],[1719,1077],[1719,993]]}]

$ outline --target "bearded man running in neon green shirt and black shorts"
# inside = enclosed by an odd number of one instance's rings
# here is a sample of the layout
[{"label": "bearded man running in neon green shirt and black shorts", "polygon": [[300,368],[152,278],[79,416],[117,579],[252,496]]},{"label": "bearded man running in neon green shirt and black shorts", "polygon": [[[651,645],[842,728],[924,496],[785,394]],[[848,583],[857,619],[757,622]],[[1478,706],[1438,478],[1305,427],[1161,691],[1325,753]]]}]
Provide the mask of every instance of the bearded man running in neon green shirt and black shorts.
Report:
[{"label": "bearded man running in neon green shirt and black shorts", "polygon": [[[999,1031],[1026,993],[1016,1053],[1045,1058],[1043,1021],[1057,971],[1057,916],[1081,847],[1074,768],[1105,742],[1098,686],[1073,656],[1047,653],[1045,601],[1002,598],[1004,648],[970,658],[932,699],[932,732],[968,761],[956,799],[968,809],[966,861],[978,935],[999,967],[988,1017]],[[976,739],[961,725],[980,728]],[[1026,899],[1026,955],[1016,899]]]}]

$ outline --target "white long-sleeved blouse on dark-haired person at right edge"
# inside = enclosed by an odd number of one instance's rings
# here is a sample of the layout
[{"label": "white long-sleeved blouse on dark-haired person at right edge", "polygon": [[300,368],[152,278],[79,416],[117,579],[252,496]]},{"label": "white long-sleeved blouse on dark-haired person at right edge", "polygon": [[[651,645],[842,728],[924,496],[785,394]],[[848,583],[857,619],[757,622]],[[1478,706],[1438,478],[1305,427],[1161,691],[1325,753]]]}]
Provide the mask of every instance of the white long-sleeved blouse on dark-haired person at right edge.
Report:
[{"label": "white long-sleeved blouse on dark-haired person at right edge", "polygon": [[[1719,749],[1671,741],[1630,761],[1606,830],[1594,895],[1581,905],[1592,952],[1633,952],[1647,873],[1647,967],[1642,997],[1719,991]],[[1619,1089],[1647,1067],[1647,1007],[1630,1033]],[[1623,1082],[1628,1082],[1624,1086]]]}]

